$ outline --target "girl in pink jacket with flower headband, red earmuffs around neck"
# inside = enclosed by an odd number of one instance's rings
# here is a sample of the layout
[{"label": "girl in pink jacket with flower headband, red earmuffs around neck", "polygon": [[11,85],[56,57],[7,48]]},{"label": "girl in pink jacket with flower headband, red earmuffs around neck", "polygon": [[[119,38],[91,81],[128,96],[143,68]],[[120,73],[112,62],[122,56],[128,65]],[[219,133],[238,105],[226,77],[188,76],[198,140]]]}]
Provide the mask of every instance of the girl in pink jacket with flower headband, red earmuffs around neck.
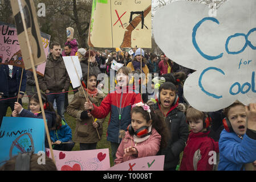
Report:
[{"label": "girl in pink jacket with flower headband, red earmuffs around neck", "polygon": [[134,104],[131,117],[131,125],[117,149],[115,164],[154,156],[160,147],[166,146],[166,127],[152,108],[142,102]]}]

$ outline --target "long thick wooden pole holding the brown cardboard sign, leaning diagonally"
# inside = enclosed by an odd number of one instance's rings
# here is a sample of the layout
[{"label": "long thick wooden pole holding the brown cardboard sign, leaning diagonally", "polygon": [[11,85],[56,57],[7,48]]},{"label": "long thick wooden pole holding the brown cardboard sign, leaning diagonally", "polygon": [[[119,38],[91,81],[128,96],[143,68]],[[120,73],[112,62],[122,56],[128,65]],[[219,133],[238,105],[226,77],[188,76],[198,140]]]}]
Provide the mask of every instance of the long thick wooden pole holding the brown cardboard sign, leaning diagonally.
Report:
[{"label": "long thick wooden pole holding the brown cardboard sign, leaning diagonally", "polygon": [[32,70],[33,70],[33,73],[34,73],[35,86],[36,86],[36,90],[37,90],[37,93],[38,93],[40,108],[41,108],[42,115],[43,115],[44,127],[46,129],[46,136],[47,136],[48,144],[49,144],[49,147],[50,147],[51,158],[55,163],[54,152],[52,151],[51,138],[50,138],[47,122],[46,122],[46,115],[45,115],[44,109],[43,109],[43,101],[42,101],[42,97],[41,97],[41,93],[40,93],[40,89],[39,89],[38,78],[36,76],[35,64],[34,64],[34,59],[33,59],[33,56],[32,56],[32,50],[31,50],[31,46],[30,46],[30,42],[29,42],[29,35],[27,34],[27,26],[26,26],[26,22],[25,22],[25,16],[24,16],[24,13],[23,13],[23,10],[22,10],[21,0],[18,0],[18,3],[19,3],[19,11],[21,12],[22,23],[23,23],[23,27],[24,27],[24,31],[25,31],[25,35],[26,35],[27,47],[29,48],[30,61],[31,61],[31,66],[32,66]]}]

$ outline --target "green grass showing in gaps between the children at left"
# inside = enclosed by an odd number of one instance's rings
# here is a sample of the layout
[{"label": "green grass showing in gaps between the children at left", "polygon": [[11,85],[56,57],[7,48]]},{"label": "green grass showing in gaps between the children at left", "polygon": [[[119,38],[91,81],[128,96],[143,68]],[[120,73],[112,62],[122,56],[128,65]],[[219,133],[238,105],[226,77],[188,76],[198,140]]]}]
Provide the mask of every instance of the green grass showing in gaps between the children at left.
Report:
[{"label": "green grass showing in gaps between the children at left", "polygon": [[[23,107],[25,109],[27,109],[28,104],[23,103]],[[11,109],[10,107],[7,110],[7,117],[10,117],[11,115]],[[68,125],[71,127],[72,130],[72,134],[74,134],[75,131],[75,126],[76,126],[76,119],[71,117],[70,115],[68,115],[67,113],[64,113],[64,117],[68,123]],[[103,123],[103,135],[101,136],[101,140],[100,142],[97,143],[97,148],[109,148],[109,158],[110,158],[110,166],[113,166],[113,158],[111,155],[111,146],[110,146],[110,142],[107,141],[107,127],[108,127],[108,119],[109,119],[109,115],[107,116],[107,118],[105,118],[105,121]],[[73,150],[72,151],[78,151],[79,150],[79,143],[76,143]]]}]

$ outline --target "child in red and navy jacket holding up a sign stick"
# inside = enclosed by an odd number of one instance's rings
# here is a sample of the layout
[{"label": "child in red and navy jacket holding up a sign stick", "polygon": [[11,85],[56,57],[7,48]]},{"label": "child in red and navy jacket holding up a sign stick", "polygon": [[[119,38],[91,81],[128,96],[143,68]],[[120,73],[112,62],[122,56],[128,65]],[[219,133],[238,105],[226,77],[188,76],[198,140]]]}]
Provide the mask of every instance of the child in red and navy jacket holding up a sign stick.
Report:
[{"label": "child in red and navy jacket holding up a sign stick", "polygon": [[132,105],[141,101],[140,93],[129,84],[129,74],[131,69],[121,67],[116,72],[116,87],[101,102],[100,106],[96,106],[91,102],[84,104],[84,109],[90,110],[95,118],[105,118],[110,112],[107,140],[111,142],[112,156],[116,158],[116,151],[121,142],[121,134],[127,130],[131,124]]}]

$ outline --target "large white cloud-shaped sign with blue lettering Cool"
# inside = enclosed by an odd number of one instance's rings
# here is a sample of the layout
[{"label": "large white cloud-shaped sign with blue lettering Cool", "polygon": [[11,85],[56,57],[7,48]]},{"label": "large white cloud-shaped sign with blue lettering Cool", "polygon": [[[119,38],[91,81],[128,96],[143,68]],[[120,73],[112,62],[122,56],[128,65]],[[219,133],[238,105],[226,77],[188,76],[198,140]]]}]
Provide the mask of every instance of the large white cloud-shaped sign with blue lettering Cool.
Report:
[{"label": "large white cloud-shaped sign with blue lettering Cool", "polygon": [[209,16],[206,5],[176,1],[156,12],[157,45],[176,63],[196,70],[184,84],[184,96],[196,109],[256,102],[255,8],[255,0],[232,0]]}]

